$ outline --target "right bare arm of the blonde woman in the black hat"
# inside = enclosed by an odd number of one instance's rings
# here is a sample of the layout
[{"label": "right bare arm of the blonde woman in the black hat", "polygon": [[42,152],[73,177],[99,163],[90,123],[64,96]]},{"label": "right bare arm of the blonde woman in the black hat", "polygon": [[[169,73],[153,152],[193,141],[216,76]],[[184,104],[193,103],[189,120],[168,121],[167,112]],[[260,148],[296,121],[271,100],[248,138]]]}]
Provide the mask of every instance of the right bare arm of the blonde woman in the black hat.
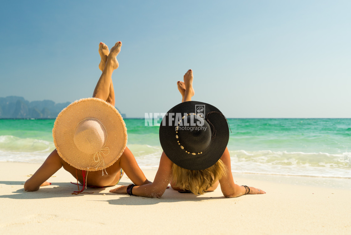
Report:
[{"label": "right bare arm of the blonde woman in the black hat", "polygon": [[[219,180],[220,188],[222,190],[222,193],[225,197],[239,197],[241,195],[244,195],[246,192],[246,189],[244,186],[239,186],[234,183],[233,175],[232,175],[232,168],[230,164],[230,154],[228,151],[228,148],[225,149],[222,157],[220,158],[224,165],[227,167],[227,174],[225,177],[221,178]],[[256,189],[253,187],[250,188],[250,194],[263,194],[266,193],[265,191],[262,191],[260,189]]]}]

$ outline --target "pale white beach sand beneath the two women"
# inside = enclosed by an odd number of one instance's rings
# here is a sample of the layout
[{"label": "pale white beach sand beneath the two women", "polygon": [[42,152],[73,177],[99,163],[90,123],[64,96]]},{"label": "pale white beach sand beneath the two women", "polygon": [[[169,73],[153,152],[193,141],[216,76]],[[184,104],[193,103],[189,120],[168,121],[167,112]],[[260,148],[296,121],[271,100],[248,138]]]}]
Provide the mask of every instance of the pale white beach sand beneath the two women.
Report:
[{"label": "pale white beach sand beneath the two women", "polygon": [[[157,199],[108,192],[113,187],[71,195],[77,186],[64,169],[52,185],[24,192],[40,164],[0,166],[1,234],[351,234],[351,179],[234,174],[237,184],[267,193],[224,198],[220,188],[201,196],[167,189]],[[144,173],[153,180],[156,170]],[[124,176],[120,185],[130,183]]]}]

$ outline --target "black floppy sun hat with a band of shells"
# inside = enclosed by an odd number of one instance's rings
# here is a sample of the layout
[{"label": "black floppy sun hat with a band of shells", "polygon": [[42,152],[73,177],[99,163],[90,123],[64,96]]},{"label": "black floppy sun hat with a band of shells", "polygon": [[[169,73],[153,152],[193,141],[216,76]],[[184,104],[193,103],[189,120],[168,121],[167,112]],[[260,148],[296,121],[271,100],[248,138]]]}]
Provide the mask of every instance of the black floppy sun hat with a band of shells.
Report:
[{"label": "black floppy sun hat with a band of shells", "polygon": [[164,116],[159,130],[167,157],[188,170],[204,170],[223,155],[229,140],[227,119],[211,104],[187,101]]}]

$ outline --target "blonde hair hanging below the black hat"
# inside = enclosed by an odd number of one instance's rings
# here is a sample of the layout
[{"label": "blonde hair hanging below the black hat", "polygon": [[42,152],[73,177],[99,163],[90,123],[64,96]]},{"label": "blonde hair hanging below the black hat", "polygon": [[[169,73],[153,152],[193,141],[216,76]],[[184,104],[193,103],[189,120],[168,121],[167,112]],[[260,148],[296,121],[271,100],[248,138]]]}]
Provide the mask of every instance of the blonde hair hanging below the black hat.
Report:
[{"label": "blonde hair hanging below the black hat", "polygon": [[227,168],[222,160],[205,170],[187,170],[173,163],[173,183],[182,190],[194,194],[204,194],[217,180],[227,174]]}]

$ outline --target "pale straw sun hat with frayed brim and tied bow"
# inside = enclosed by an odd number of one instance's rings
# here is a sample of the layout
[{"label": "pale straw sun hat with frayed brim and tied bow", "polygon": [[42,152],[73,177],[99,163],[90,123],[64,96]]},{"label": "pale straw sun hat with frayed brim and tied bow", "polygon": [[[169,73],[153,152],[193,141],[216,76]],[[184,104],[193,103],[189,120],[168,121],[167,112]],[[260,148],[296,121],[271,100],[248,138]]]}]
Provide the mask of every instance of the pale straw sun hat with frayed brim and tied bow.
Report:
[{"label": "pale straw sun hat with frayed brim and tied bow", "polygon": [[57,116],[52,135],[60,157],[80,170],[104,170],[117,161],[127,145],[122,116],[98,98],[69,104]]}]

